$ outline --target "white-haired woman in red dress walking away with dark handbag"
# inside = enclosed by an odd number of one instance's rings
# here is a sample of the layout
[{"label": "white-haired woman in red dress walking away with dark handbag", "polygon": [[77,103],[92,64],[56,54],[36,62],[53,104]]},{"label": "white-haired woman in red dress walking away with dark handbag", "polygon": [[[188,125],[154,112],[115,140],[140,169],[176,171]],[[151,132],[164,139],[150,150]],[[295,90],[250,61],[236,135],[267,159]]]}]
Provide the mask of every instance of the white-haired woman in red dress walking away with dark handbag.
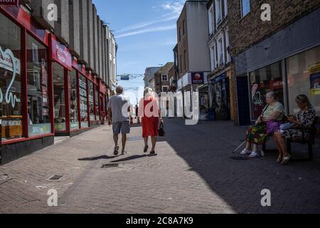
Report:
[{"label": "white-haired woman in red dress walking away with dark handbag", "polygon": [[[142,137],[144,138],[144,152],[148,151],[148,138],[151,137],[151,155],[155,155],[156,138],[159,125],[162,122],[158,99],[151,88],[144,90],[144,98],[139,103],[139,118],[142,118]],[[138,120],[139,123],[139,120]]]}]

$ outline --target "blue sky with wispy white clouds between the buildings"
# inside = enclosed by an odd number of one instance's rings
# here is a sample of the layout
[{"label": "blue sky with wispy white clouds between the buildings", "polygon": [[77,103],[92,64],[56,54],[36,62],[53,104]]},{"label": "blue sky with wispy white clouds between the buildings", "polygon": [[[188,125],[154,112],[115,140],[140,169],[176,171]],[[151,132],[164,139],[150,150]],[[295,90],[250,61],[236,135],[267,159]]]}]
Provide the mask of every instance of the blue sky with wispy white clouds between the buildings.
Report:
[{"label": "blue sky with wispy white clouds between the buildings", "polygon": [[117,73],[144,73],[174,60],[176,20],[185,0],[93,0],[118,43]]}]

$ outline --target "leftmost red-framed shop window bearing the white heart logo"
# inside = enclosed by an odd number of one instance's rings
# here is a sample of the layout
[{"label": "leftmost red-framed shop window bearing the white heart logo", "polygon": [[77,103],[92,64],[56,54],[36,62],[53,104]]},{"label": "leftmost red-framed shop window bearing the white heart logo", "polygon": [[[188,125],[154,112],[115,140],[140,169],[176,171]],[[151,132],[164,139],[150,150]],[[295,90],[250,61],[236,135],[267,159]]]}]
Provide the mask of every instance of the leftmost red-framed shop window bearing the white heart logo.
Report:
[{"label": "leftmost red-framed shop window bearing the white heart logo", "polygon": [[21,29],[0,14],[0,115],[2,140],[22,138]]}]

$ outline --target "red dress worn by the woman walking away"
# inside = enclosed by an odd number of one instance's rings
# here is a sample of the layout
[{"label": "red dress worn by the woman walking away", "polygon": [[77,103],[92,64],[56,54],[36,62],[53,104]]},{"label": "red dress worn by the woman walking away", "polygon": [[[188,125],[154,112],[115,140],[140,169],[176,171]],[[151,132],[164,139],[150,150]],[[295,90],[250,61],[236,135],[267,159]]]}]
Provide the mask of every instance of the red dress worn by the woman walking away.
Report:
[{"label": "red dress worn by the woman walking away", "polygon": [[155,97],[149,96],[140,100],[139,117],[142,117],[142,137],[157,137],[160,109]]}]

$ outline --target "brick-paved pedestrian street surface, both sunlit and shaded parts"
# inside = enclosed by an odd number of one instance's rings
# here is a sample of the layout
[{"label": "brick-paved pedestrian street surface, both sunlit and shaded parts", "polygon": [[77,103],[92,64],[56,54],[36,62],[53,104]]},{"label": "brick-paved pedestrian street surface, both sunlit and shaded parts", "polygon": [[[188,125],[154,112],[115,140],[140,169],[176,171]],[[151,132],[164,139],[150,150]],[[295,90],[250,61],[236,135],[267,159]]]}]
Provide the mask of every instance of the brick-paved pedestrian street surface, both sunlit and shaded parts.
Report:
[{"label": "brick-paved pedestrian street surface, both sunlit and shaded parts", "polygon": [[[112,155],[112,131],[103,126],[0,167],[0,213],[320,212],[319,148],[313,162],[282,166],[275,152],[233,155],[245,128],[229,122],[166,119],[165,128],[157,156],[143,153],[137,125],[129,154]],[[58,191],[58,207],[48,207],[50,189]],[[264,189],[271,207],[261,206]]]}]

